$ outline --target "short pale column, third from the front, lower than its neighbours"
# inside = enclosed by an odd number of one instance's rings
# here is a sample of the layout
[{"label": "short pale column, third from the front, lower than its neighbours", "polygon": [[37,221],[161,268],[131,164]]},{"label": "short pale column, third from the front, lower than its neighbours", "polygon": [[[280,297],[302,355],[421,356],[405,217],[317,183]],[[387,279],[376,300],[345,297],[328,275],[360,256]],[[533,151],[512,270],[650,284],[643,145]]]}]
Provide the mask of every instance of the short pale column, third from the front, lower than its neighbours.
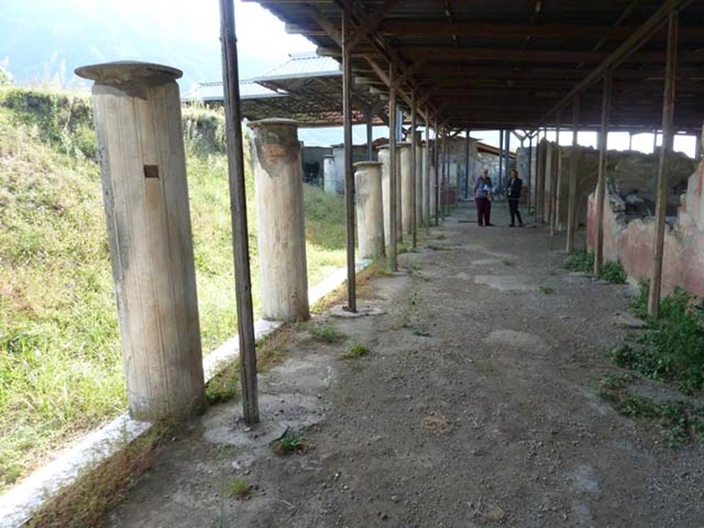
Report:
[{"label": "short pale column, third from the front, lower than its neighbours", "polygon": [[354,167],[359,256],[363,259],[376,259],[384,256],[382,164],[360,161]]}]

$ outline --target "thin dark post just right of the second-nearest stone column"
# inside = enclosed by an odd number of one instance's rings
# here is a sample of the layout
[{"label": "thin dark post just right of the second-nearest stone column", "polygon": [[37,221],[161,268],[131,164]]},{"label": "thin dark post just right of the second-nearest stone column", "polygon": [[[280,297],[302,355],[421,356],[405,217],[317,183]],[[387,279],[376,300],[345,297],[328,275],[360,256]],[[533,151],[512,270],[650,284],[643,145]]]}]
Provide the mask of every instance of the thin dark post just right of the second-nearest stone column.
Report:
[{"label": "thin dark post just right of the second-nearest stone column", "polygon": [[345,150],[345,219],[347,227],[347,306],[357,311],[356,269],[354,257],[354,174],[352,172],[352,64],[350,13],[342,11],[342,120]]}]

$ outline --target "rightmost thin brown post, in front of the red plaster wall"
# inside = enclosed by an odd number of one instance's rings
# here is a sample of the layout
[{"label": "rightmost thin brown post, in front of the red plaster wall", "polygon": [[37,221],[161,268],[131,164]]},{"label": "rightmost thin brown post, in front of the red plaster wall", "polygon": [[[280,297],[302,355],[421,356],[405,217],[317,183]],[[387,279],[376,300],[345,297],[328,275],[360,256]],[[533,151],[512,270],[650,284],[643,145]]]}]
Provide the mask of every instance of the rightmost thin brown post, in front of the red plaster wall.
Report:
[{"label": "rightmost thin brown post, in front of the red plaster wall", "polygon": [[655,202],[655,237],[653,240],[653,269],[650,274],[648,314],[657,317],[660,313],[660,289],[662,285],[662,256],[665,252],[665,214],[667,214],[667,179],[672,150],[672,117],[674,115],[674,87],[677,69],[677,10],[670,11],[667,21],[667,66],[665,70],[665,94],[662,103],[662,148],[658,167],[658,194]]}]

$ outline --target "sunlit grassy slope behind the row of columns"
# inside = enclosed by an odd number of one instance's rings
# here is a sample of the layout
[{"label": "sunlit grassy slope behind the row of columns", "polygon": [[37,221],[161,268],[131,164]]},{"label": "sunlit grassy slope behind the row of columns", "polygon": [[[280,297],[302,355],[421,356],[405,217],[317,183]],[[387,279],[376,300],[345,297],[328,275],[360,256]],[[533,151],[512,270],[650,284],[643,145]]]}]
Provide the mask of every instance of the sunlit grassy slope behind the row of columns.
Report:
[{"label": "sunlit grassy slope behind the row of columns", "polygon": [[[16,92],[0,91],[0,107],[26,101]],[[76,115],[71,122],[71,112],[46,117],[44,96],[0,108],[0,489],[126,408],[90,123]],[[201,333],[209,352],[237,325],[227,160],[192,136],[187,127]],[[246,181],[258,309],[249,170]],[[344,207],[318,188],[306,186],[305,198],[313,284],[344,264]]]}]

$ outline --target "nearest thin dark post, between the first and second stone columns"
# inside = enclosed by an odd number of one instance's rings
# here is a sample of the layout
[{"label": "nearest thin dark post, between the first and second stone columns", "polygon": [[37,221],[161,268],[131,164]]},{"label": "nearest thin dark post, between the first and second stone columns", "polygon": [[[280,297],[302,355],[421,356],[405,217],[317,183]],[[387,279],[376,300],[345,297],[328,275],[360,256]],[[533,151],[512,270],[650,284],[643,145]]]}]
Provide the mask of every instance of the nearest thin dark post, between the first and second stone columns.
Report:
[{"label": "nearest thin dark post, between the first and second stone columns", "polygon": [[232,250],[234,253],[234,290],[237,300],[242,411],[244,421],[252,425],[259,421],[257,356],[254,343],[249,231],[247,229],[247,204],[244,190],[237,37],[234,33],[234,4],[231,0],[220,0],[220,42],[222,45],[222,85],[225,92],[227,178],[230,183],[230,210],[232,211]]}]

